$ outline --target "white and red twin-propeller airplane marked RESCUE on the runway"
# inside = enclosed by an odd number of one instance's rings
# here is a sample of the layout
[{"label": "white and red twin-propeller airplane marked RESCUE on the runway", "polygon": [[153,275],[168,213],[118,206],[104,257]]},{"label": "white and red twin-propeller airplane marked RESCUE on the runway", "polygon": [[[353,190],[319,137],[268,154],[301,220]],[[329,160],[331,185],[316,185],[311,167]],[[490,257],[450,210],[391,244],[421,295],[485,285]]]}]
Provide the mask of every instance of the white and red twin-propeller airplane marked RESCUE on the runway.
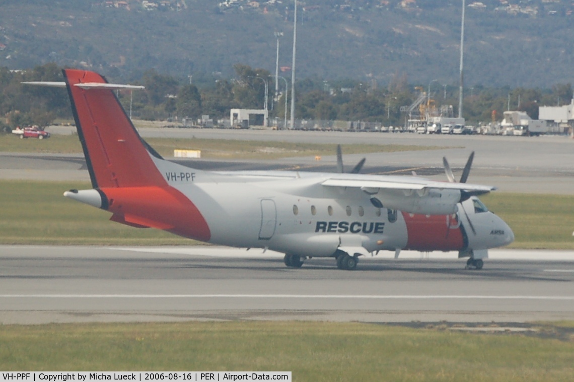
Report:
[{"label": "white and red twin-propeller airplane marked RESCUE on the runway", "polygon": [[[471,154],[456,182],[418,176],[359,174],[364,160],[338,173],[202,171],[163,159],[139,133],[100,74],[63,70],[92,188],[64,196],[111,212],[124,225],[169,231],[215,245],[284,253],[299,268],[306,259],[336,259],[356,269],[379,251],[458,251],[467,269],[482,269],[488,249],[514,241],[510,227],[478,195],[495,187],[466,183]],[[416,175],[416,174],[415,174]]]}]

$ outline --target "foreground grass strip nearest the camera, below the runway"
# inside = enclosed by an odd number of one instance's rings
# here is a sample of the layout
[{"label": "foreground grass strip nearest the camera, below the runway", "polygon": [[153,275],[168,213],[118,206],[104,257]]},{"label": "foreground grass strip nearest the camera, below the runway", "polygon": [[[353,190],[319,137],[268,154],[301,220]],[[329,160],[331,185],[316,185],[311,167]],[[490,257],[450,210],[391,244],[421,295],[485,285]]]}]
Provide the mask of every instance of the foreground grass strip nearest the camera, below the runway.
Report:
[{"label": "foreground grass strip nearest the camera, below the runway", "polygon": [[3,371],[292,371],[293,381],[567,381],[574,342],[329,322],[6,325]]}]

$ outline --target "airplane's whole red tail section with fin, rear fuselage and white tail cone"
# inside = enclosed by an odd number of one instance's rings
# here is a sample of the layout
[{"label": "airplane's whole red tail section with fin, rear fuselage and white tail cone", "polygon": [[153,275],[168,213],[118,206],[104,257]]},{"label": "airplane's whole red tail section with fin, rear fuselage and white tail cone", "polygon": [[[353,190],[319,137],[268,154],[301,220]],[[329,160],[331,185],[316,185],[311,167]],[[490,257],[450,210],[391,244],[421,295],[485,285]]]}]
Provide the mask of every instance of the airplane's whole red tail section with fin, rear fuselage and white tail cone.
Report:
[{"label": "airplane's whole red tail section with fin, rear fuselage and white tail cone", "polygon": [[181,166],[162,159],[139,136],[114,94],[142,87],[109,84],[86,70],[63,72],[92,182],[91,190],[70,190],[64,196],[112,212],[114,222],[209,241],[200,211],[162,175],[179,173]]}]

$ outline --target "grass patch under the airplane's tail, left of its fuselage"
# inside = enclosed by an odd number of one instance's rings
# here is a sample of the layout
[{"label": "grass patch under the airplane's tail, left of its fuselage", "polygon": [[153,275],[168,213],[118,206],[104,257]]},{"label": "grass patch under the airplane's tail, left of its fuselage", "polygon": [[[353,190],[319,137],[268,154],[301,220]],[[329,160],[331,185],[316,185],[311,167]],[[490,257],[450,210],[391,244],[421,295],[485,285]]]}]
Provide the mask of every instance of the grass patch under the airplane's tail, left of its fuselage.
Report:
[{"label": "grass patch under the airplane's tail, left of its fuselage", "polygon": [[0,243],[52,245],[192,245],[154,229],[110,222],[110,212],[65,198],[90,183],[0,181]]}]

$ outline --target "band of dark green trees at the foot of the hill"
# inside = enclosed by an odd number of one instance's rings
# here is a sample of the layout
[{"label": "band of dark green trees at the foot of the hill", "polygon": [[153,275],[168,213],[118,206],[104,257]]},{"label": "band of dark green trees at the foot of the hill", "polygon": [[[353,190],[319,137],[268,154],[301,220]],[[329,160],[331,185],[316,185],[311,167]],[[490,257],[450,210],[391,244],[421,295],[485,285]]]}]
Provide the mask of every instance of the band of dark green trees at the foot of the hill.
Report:
[{"label": "band of dark green trees at the foot of the hill", "polygon": [[[280,81],[277,99],[274,97],[274,77],[265,69],[236,64],[235,78],[203,81],[200,88],[193,78],[176,78],[151,69],[143,73],[135,84],[145,90],[118,92],[118,98],[134,118],[146,120],[197,120],[202,115],[212,119],[228,119],[231,108],[262,109],[267,99],[271,117],[284,118],[285,84],[288,87],[287,113],[290,109],[290,84]],[[124,82],[109,78],[110,82]],[[11,71],[0,68],[0,127],[6,131],[18,125],[45,126],[55,119],[71,119],[65,89],[22,85],[24,81],[63,81],[61,68],[55,64],[34,69]],[[321,78],[307,78],[296,83],[296,119],[377,121],[384,125],[405,123],[401,107],[408,106],[428,92],[440,105],[457,105],[458,88],[430,84],[413,86],[406,76],[396,75],[385,86],[376,82],[354,80],[329,82]],[[428,96],[428,94],[427,94]],[[520,110],[533,119],[538,118],[540,105],[564,105],[571,102],[571,84],[555,85],[552,89],[483,88],[465,89],[463,116],[468,123],[488,123],[492,111],[501,120],[503,111]],[[455,115],[456,107],[453,108]]]}]

